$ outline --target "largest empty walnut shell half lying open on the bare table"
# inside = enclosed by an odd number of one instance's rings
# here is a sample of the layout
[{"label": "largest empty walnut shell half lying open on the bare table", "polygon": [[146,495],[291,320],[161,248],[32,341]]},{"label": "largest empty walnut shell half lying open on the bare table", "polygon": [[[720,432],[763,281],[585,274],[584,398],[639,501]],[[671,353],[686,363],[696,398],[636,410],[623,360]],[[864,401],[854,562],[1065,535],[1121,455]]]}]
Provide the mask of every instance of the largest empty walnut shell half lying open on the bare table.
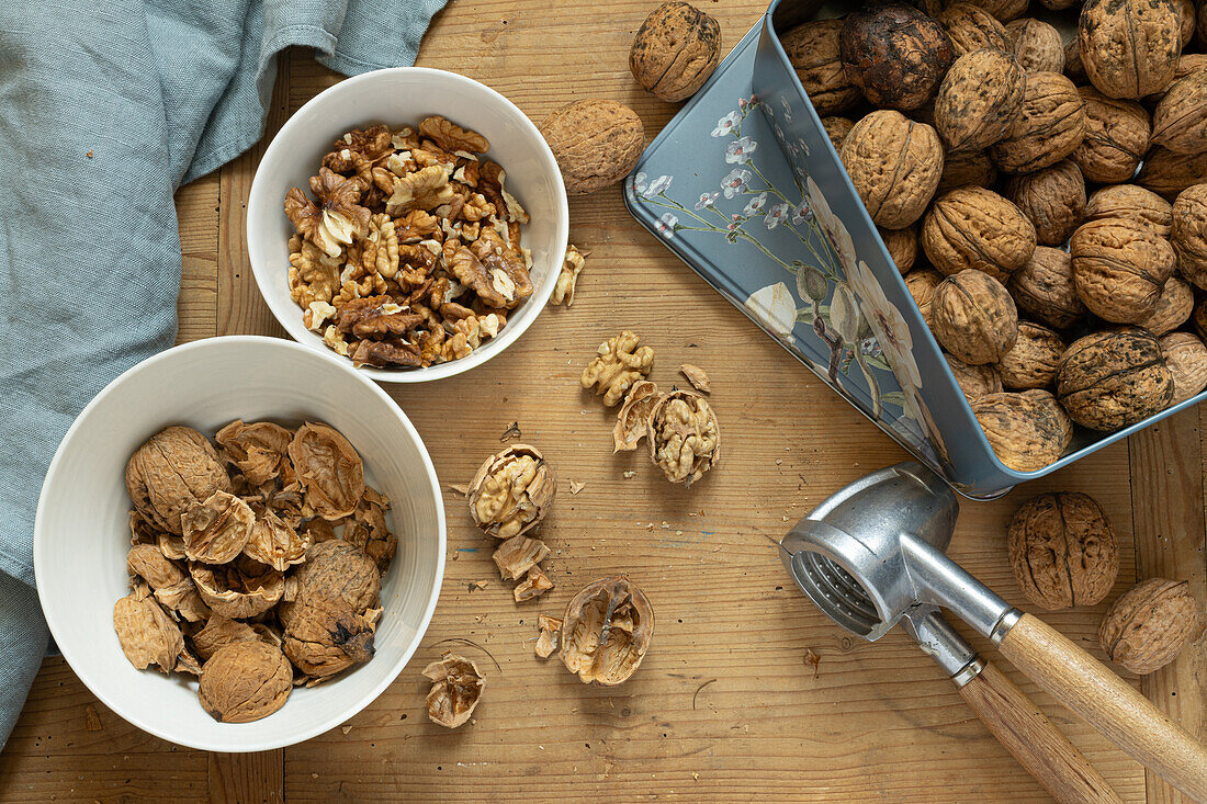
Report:
[{"label": "largest empty walnut shell half lying open on the bare table", "polygon": [[593,581],[571,598],[561,660],[583,683],[614,687],[641,666],[654,635],[654,610],[628,576]]}]

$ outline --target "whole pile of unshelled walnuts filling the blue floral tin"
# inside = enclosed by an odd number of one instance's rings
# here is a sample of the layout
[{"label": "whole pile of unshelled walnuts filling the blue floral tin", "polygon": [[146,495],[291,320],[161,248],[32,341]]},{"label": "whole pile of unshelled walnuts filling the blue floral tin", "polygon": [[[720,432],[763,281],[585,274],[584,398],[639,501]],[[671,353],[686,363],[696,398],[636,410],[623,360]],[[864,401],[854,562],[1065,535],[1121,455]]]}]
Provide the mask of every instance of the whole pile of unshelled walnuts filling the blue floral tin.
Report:
[{"label": "whole pile of unshelled walnuts filling the blue floral tin", "polygon": [[781,37],[1019,471],[1207,386],[1207,5],[1042,1],[873,1]]}]

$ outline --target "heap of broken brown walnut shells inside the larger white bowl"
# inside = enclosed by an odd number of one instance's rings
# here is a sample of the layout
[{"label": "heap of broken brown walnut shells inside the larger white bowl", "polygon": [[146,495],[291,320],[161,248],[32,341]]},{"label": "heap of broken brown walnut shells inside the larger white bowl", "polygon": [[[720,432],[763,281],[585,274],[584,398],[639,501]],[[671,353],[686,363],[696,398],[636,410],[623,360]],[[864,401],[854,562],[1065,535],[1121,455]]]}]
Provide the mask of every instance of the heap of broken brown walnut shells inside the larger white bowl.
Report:
[{"label": "heap of broken brown walnut shells inside the larger white bowl", "polygon": [[199,676],[205,711],[246,723],[373,657],[397,541],[334,429],[235,420],[215,441],[173,426],[130,456],[113,628],[135,668]]}]

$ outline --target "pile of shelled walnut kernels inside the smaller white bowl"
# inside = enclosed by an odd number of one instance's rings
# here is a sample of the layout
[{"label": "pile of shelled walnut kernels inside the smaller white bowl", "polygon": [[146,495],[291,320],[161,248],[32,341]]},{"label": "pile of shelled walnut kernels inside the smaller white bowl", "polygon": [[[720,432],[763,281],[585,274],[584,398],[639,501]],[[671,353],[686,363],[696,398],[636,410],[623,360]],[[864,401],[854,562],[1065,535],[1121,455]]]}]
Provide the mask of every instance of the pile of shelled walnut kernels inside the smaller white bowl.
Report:
[{"label": "pile of shelled walnut kernels inside the smaller white bowl", "polygon": [[457,360],[498,334],[532,295],[532,260],[520,245],[529,215],[488,150],[439,116],[336,140],[314,198],[285,197],[290,295],[307,328],[375,367]]}]

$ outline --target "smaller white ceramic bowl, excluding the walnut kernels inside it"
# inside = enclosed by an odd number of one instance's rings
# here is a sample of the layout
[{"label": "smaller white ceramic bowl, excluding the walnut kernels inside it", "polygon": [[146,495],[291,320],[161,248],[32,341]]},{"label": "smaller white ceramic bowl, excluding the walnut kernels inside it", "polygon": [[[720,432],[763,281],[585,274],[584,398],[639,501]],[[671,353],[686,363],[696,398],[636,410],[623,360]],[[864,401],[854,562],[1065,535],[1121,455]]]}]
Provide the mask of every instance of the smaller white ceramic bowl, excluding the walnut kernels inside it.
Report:
[{"label": "smaller white ceramic bowl, excluding the walnut kernels inside it", "polygon": [[514,343],[549,299],[566,254],[570,215],[558,163],[532,121],[490,87],[455,72],[426,68],[366,72],[319,93],[281,127],[264,151],[247,199],[247,254],[273,315],[298,343],[351,365],[305,328],[301,308],[290,298],[287,244],[293,225],[285,217],[285,193],[290,187],[308,188],[319,161],[344,132],[373,123],[414,126],[428,115],[443,115],[490,140],[486,156],[507,171],[507,190],[531,216],[523,244],[532,251],[536,287],[498,336],[467,357],[427,368],[360,369],[386,383],[443,379],[480,366]]}]

